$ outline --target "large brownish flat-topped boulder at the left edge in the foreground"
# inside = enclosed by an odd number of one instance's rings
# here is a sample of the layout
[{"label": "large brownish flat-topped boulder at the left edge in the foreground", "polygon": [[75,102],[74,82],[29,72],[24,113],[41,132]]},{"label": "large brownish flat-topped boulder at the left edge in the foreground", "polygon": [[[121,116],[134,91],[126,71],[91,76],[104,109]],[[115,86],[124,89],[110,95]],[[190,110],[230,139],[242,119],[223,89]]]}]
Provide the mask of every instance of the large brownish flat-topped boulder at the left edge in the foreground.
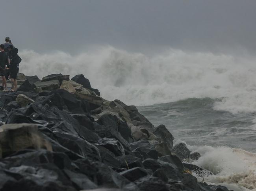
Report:
[{"label": "large brownish flat-topped boulder at the left edge in the foreground", "polygon": [[6,124],[1,126],[0,146],[2,157],[26,148],[52,150],[51,144],[43,138],[35,124]]}]

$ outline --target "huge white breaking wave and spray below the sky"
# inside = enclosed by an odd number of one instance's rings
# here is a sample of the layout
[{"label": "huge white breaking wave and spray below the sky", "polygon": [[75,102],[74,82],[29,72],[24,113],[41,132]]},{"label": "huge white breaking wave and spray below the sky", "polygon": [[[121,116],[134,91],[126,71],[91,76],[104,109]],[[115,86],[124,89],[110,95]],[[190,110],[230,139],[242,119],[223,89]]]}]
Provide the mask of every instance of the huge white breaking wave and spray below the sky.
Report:
[{"label": "huge white breaking wave and spray below the sky", "polygon": [[84,74],[109,100],[151,105],[181,99],[223,98],[215,109],[256,111],[256,64],[253,58],[169,49],[158,55],[98,47],[76,56],[21,51],[20,71],[43,77],[51,73]]}]

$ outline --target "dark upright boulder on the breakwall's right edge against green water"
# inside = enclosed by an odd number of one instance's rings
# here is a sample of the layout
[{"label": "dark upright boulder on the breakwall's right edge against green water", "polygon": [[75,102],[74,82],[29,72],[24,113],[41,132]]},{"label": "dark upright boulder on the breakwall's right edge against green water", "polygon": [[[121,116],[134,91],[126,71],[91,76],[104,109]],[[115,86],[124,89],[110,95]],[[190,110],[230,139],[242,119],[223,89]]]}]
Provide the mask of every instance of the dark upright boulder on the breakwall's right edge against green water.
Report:
[{"label": "dark upright boulder on the breakwall's right edge against green water", "polygon": [[156,135],[162,142],[165,142],[169,149],[173,148],[173,135],[166,129],[164,125],[156,127],[154,130],[154,135]]}]

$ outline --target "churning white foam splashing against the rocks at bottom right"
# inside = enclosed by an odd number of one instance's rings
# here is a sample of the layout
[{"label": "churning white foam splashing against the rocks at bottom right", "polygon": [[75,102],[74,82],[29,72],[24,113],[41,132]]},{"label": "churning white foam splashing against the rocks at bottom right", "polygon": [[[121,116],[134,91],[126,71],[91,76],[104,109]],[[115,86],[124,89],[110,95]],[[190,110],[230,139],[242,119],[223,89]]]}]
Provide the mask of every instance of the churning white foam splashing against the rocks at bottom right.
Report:
[{"label": "churning white foam splashing against the rocks at bottom right", "polygon": [[[177,140],[174,145],[183,142]],[[193,164],[211,171],[214,175],[195,174],[198,182],[222,185],[235,191],[256,191],[256,153],[230,147],[187,147],[201,157]]]}]

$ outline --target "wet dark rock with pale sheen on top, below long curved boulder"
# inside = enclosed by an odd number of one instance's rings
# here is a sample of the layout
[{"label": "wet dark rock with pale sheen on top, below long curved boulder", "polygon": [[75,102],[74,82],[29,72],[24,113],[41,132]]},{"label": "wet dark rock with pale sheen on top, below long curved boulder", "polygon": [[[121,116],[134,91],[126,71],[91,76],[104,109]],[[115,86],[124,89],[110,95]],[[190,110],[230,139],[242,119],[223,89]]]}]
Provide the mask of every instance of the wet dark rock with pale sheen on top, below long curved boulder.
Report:
[{"label": "wet dark rock with pale sheen on top, below long curved boulder", "polygon": [[100,139],[96,145],[100,145],[105,147],[109,151],[115,154],[115,156],[124,156],[124,147],[122,144],[113,138],[102,138]]}]

